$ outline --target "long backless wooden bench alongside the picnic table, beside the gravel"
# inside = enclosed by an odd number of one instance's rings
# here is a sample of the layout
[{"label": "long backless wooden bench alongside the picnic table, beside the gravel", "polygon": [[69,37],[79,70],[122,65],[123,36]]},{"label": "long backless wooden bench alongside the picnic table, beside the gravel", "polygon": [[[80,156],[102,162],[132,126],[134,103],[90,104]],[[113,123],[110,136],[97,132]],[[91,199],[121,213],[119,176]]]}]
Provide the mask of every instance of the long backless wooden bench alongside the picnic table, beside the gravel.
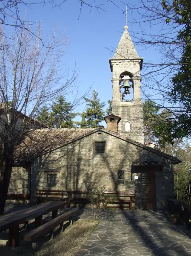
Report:
[{"label": "long backless wooden bench alongside the picnic table, beside the gravel", "polygon": [[54,239],[54,228],[60,224],[61,232],[63,232],[63,222],[68,220],[70,221],[70,225],[73,224],[72,216],[74,213],[78,211],[77,209],[71,209],[70,211],[53,218],[51,221],[46,222],[40,227],[35,228],[34,230],[29,231],[23,236],[23,240],[25,241],[33,241],[32,248],[35,249],[37,247],[37,239],[39,236],[46,234],[51,230],[51,239]]}]

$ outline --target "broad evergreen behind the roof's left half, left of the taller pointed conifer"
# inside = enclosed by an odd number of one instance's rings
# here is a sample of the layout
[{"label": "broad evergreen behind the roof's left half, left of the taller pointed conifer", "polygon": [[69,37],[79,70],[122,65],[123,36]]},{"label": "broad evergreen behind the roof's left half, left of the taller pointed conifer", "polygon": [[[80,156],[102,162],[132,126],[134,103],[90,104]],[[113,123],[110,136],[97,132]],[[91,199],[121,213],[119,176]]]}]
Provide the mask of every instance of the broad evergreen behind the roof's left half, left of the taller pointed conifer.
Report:
[{"label": "broad evergreen behind the roof's left half, left of the taller pointed conifer", "polygon": [[63,96],[59,96],[51,105],[51,119],[54,128],[72,128],[72,119],[76,116],[73,113],[71,102],[67,102]]}]

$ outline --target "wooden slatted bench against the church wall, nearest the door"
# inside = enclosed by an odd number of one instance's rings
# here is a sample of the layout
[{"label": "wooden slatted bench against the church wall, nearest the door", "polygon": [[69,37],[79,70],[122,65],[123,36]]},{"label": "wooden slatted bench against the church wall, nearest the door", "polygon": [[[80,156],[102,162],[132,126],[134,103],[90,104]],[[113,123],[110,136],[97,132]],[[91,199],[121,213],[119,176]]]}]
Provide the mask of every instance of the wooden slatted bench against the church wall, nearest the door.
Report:
[{"label": "wooden slatted bench against the church wall, nearest the door", "polygon": [[[134,203],[134,196],[135,193],[132,192],[105,192],[104,193],[106,196],[111,197],[110,200],[106,201],[106,208],[108,207],[123,207],[124,204],[129,204],[129,209],[132,210],[133,209],[133,203]],[[115,199],[117,198],[117,199]],[[127,199],[129,198],[129,199]],[[108,205],[108,203],[110,203],[110,205]],[[117,204],[117,205],[113,205],[113,204]]]}]

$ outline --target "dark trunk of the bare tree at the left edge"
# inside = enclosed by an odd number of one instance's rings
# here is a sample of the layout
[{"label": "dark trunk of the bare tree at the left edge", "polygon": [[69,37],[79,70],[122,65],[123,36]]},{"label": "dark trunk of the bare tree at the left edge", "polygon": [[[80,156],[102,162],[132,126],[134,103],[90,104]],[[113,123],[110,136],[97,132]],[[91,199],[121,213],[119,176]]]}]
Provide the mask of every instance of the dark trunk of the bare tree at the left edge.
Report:
[{"label": "dark trunk of the bare tree at the left edge", "polygon": [[3,167],[0,177],[0,215],[3,214],[5,208],[6,197],[11,179],[12,163],[9,157],[3,160]]}]

